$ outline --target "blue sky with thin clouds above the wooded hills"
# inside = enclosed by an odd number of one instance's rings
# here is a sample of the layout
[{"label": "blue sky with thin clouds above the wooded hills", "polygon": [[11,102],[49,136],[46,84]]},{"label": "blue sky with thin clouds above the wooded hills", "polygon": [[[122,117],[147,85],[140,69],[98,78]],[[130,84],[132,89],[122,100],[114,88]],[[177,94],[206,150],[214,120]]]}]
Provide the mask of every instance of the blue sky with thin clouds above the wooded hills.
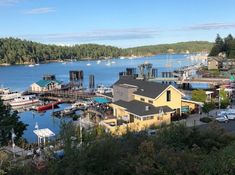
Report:
[{"label": "blue sky with thin clouds above the wooded hills", "polygon": [[135,47],[235,35],[235,0],[0,0],[0,37]]}]

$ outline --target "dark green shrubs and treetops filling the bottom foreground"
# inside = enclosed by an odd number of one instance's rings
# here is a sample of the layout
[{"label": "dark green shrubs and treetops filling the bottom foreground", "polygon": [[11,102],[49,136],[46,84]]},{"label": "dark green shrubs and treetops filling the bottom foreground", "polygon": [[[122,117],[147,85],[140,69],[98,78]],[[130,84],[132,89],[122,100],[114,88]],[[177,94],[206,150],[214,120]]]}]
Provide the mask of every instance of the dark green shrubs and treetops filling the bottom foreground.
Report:
[{"label": "dark green shrubs and treetops filling the bottom foreground", "polygon": [[[208,128],[187,128],[183,124],[164,126],[154,136],[127,133],[122,137],[99,135],[76,148],[69,143],[65,157],[49,161],[46,172],[38,174],[90,175],[217,175],[235,173],[235,137],[218,124]],[[92,134],[91,134],[92,135]],[[26,167],[9,174],[34,174]]]}]

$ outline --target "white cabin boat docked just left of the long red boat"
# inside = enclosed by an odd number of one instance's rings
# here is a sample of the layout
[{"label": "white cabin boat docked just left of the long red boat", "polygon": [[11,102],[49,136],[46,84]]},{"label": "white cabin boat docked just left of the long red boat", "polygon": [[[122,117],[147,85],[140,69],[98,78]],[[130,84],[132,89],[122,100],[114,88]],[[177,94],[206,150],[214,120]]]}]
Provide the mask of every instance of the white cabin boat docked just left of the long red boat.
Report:
[{"label": "white cabin boat docked just left of the long red boat", "polygon": [[13,101],[9,102],[9,104],[14,107],[31,105],[38,103],[39,100],[34,95],[24,95],[18,98],[15,98]]}]

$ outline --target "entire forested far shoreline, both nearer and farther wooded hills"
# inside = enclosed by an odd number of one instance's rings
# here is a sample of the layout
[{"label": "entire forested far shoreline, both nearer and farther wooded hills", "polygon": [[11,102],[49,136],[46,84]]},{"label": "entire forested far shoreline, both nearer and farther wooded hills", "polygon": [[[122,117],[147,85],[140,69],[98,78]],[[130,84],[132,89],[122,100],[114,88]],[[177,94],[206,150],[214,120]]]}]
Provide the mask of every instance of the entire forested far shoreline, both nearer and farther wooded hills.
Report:
[{"label": "entire forested far shoreline, both nearer and farther wooded hills", "polygon": [[0,39],[0,64],[33,64],[66,59],[102,59],[120,56],[151,56],[161,53],[208,52],[212,43],[202,41],[181,42],[121,49],[98,44],[74,46],[46,45],[16,38]]}]

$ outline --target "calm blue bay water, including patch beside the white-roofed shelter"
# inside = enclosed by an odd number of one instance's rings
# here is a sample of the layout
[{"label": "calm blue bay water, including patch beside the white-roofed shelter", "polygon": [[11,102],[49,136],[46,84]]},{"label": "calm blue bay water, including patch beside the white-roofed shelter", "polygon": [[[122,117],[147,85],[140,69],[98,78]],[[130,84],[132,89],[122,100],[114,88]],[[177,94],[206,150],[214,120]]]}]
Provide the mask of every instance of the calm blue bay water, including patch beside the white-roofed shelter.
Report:
[{"label": "calm blue bay water, including patch beside the white-roofed shelter", "polygon": [[[76,61],[69,62],[67,64],[62,63],[50,63],[41,64],[35,67],[28,66],[8,66],[0,67],[0,85],[9,87],[12,90],[24,91],[29,86],[40,80],[43,74],[55,74],[58,80],[64,83],[69,81],[70,70],[83,70],[84,71],[84,86],[88,86],[88,77],[90,74],[95,75],[96,84],[112,85],[118,80],[119,72],[124,71],[127,67],[138,67],[139,64],[145,61],[152,63],[154,68],[158,69],[158,74],[162,71],[171,71],[176,68],[199,63],[200,60],[191,61],[188,59],[189,55],[175,54],[170,56],[172,61],[172,68],[166,68],[168,63],[168,55],[157,55],[153,57],[142,57],[135,59],[111,59],[110,61],[102,60],[100,64],[96,61]],[[107,66],[107,63],[111,63]],[[87,66],[90,63],[90,66]],[[65,105],[62,105],[63,108]],[[29,126],[24,133],[24,137],[29,142],[35,142],[36,136],[33,134],[35,123],[37,122],[40,128],[49,128],[56,134],[59,132],[60,120],[51,117],[52,111],[47,111],[43,114],[35,113],[31,111],[20,113],[21,120],[27,123]]]}]

